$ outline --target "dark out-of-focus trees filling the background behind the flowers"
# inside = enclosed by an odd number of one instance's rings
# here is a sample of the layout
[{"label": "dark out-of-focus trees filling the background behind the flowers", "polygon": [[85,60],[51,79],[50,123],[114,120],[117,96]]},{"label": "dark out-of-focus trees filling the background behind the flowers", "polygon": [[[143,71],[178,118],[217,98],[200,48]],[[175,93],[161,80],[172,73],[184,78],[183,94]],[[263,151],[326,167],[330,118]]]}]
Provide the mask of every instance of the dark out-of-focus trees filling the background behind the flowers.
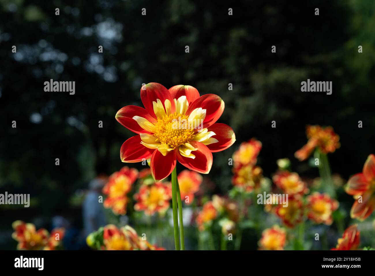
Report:
[{"label": "dark out-of-focus trees filling the background behind the flowers", "polygon": [[[307,124],[339,134],[341,148],[330,155],[334,173],[347,180],[360,172],[375,153],[374,12],[373,0],[0,0],[0,192],[31,197],[29,208],[0,206],[0,249],[15,249],[17,219],[50,230],[52,218],[62,216],[83,229],[89,181],[124,166],[120,146],[132,133],[115,113],[142,106],[142,83],[188,84],[224,100],[219,122],[234,129],[237,141],[214,154],[204,176],[208,196],[231,189],[228,158],[251,137],[263,143],[264,175],[289,158],[300,175],[318,176],[294,157]],[[308,78],[332,81],[332,95],[301,92]],[[50,79],[75,81],[75,95],[44,92]],[[348,210],[353,204],[345,193],[338,200]],[[72,242],[70,249],[83,248]],[[246,248],[256,249],[256,240]]]}]

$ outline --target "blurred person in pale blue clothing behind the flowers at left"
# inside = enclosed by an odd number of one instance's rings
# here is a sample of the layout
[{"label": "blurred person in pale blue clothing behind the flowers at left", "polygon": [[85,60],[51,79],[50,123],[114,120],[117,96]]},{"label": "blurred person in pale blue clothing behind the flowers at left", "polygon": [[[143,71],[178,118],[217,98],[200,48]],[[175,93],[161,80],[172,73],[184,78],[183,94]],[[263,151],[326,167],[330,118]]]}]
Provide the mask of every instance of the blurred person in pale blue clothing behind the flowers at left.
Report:
[{"label": "blurred person in pale blue clothing behind the flowers at left", "polygon": [[99,202],[106,178],[96,177],[89,183],[89,192],[82,204],[84,234],[89,235],[106,225],[103,203]]}]

